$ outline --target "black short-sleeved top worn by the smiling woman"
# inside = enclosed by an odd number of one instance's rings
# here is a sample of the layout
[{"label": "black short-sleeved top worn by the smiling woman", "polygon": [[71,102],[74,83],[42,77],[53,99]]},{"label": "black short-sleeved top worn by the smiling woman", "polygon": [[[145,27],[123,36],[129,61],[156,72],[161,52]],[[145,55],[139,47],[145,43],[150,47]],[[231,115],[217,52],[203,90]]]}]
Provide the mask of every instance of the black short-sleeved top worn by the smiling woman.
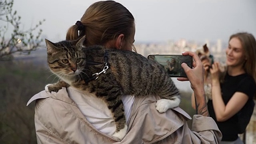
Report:
[{"label": "black short-sleeved top worn by the smiling woman", "polygon": [[[248,74],[241,74],[238,76],[229,76],[226,74],[224,82],[220,84],[221,94],[225,105],[235,92],[243,92],[249,97],[248,102],[253,100],[256,92],[256,84],[252,76]],[[244,106],[244,107],[245,107]],[[214,109],[212,106],[212,100],[208,101],[208,110],[210,116],[215,120],[218,128],[222,132],[222,141],[234,141],[238,138],[238,116],[235,114],[225,122],[217,122]]]}]

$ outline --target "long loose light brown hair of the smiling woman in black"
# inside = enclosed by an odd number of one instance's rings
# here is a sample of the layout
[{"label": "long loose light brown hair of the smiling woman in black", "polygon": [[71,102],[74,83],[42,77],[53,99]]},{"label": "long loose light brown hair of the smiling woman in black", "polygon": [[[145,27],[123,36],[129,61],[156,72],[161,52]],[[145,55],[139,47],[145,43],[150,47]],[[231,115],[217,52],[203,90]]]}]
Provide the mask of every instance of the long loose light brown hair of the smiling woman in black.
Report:
[{"label": "long loose light brown hair of the smiling woman in black", "polygon": [[[246,57],[243,68],[256,82],[256,40],[254,36],[247,32],[240,32],[231,35],[229,40],[232,38],[238,38],[240,40]],[[256,99],[256,95],[254,98]]]}]

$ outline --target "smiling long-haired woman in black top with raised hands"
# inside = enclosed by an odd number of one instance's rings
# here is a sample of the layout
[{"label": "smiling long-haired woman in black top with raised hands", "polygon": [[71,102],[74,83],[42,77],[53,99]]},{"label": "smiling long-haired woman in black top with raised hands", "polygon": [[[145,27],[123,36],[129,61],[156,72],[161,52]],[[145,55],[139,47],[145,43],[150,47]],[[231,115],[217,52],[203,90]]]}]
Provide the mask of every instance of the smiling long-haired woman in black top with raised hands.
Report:
[{"label": "smiling long-haired woman in black top with raised hands", "polygon": [[256,40],[252,34],[241,32],[230,36],[226,65],[223,82],[220,82],[219,63],[214,62],[210,69],[209,114],[222,132],[220,144],[242,144],[238,134],[245,131],[256,96]]}]

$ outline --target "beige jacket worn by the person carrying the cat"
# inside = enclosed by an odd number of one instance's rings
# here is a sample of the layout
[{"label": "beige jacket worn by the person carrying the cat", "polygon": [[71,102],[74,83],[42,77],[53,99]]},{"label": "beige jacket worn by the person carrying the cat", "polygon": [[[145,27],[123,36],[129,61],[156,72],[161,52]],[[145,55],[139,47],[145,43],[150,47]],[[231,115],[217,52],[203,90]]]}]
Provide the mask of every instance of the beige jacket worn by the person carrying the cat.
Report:
[{"label": "beige jacket worn by the person carrying the cat", "polygon": [[210,117],[194,115],[190,130],[186,120],[191,118],[181,108],[160,114],[154,96],[135,98],[123,140],[96,130],[68,97],[66,88],[58,93],[42,91],[28,104],[34,100],[38,144],[218,144],[222,138]]}]

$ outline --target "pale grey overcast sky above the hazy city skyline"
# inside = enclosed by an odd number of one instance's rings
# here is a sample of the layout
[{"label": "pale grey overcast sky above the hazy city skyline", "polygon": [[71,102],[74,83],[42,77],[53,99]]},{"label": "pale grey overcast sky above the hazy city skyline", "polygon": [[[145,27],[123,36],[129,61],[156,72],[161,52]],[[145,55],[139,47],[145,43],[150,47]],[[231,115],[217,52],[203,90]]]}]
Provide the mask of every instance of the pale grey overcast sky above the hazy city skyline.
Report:
[{"label": "pale grey overcast sky above the hazy city skyline", "polygon": [[[14,0],[24,29],[40,28],[51,41],[64,40],[67,29],[98,0]],[[133,14],[137,42],[228,40],[247,31],[256,36],[256,0],[116,0]]]}]

